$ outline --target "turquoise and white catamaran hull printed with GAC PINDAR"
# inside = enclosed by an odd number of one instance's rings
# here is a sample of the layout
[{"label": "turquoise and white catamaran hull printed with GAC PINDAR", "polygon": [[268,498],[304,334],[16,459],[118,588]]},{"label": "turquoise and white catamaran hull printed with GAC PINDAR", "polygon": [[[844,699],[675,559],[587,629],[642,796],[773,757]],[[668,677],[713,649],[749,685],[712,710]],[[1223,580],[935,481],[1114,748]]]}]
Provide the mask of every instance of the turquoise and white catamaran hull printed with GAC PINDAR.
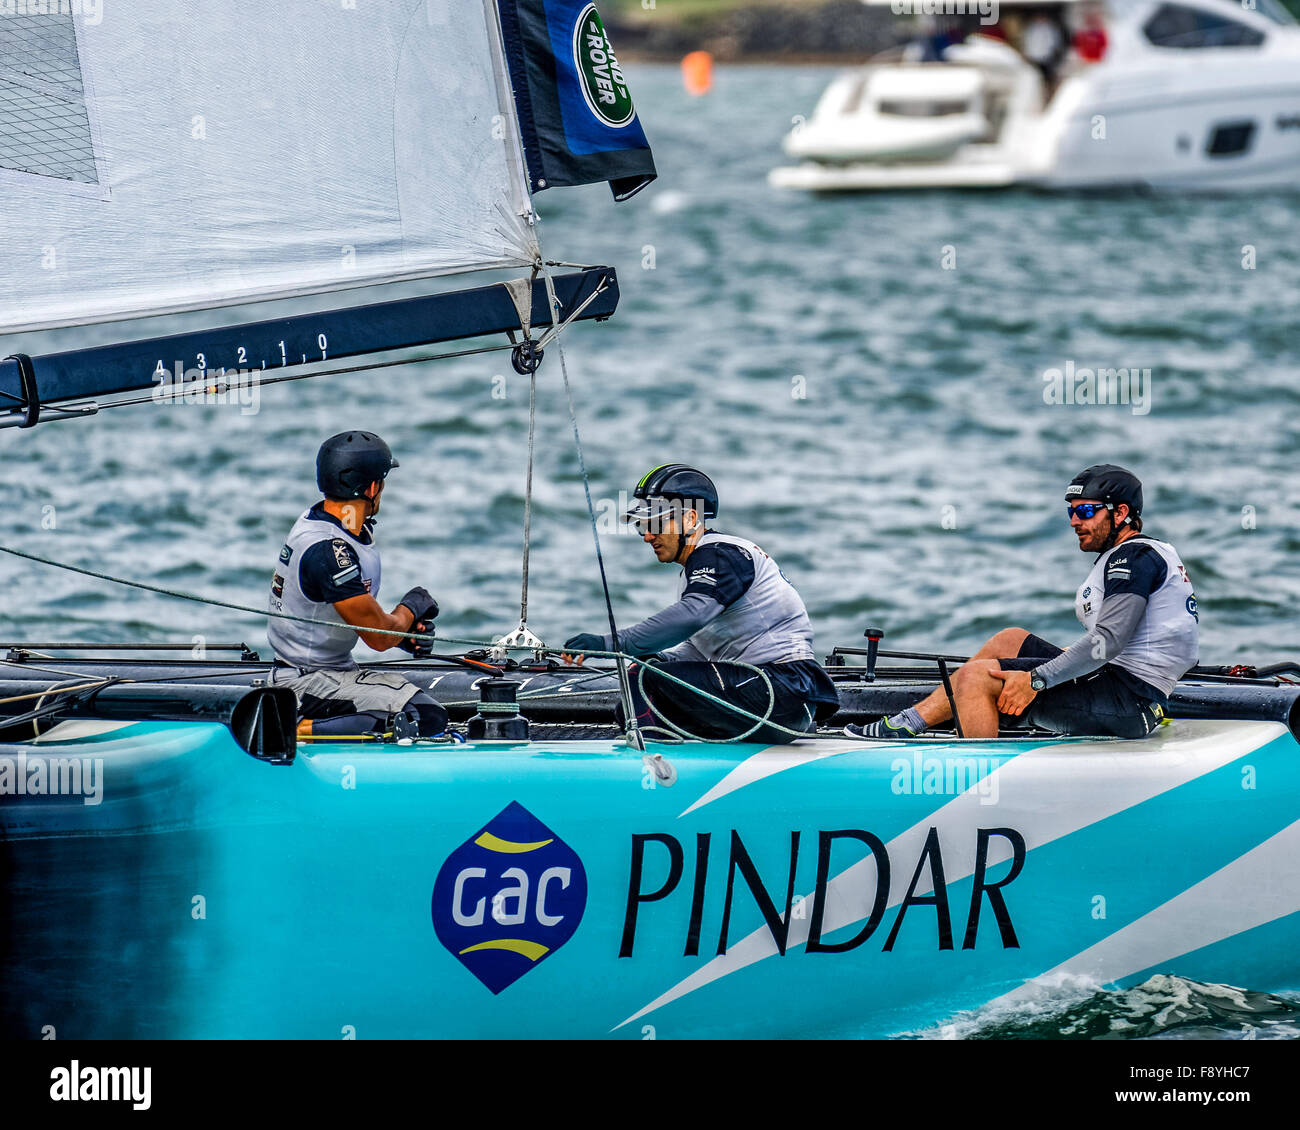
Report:
[{"label": "turquoise and white catamaran hull printed with GAC PINDAR", "polygon": [[888,1036],[1153,973],[1300,988],[1280,723],[654,750],[671,785],[607,741],[0,748],[4,1029]]}]

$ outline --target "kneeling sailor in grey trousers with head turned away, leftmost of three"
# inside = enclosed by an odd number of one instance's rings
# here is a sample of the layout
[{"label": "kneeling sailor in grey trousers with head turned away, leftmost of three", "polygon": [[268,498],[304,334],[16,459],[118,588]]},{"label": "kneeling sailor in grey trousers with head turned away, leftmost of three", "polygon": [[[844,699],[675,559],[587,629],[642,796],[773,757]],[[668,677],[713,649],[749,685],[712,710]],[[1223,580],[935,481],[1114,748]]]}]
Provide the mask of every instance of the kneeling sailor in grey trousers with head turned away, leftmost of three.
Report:
[{"label": "kneeling sailor in grey trousers with head turned away, leftmost of three", "polygon": [[389,445],[370,432],[341,432],[321,445],[316,485],[325,498],[303,514],[280,551],[270,586],[266,636],[276,651],[272,681],[298,694],[300,729],[313,735],[382,732],[390,724],[437,735],[447,713],[429,694],[391,671],[363,671],[352,659],[358,636],[376,651],[426,644],[373,631],[433,632],[438,603],[425,589],[408,592],[391,612],[380,593],[374,518],[389,471]]}]

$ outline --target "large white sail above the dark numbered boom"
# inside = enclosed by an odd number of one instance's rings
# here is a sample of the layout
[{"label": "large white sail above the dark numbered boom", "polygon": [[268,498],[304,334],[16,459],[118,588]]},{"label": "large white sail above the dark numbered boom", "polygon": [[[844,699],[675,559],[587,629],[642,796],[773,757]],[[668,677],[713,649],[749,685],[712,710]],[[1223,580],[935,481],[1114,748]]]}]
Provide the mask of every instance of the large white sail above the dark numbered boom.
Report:
[{"label": "large white sail above the dark numbered boom", "polygon": [[494,0],[4,7],[0,334],[536,259]]}]

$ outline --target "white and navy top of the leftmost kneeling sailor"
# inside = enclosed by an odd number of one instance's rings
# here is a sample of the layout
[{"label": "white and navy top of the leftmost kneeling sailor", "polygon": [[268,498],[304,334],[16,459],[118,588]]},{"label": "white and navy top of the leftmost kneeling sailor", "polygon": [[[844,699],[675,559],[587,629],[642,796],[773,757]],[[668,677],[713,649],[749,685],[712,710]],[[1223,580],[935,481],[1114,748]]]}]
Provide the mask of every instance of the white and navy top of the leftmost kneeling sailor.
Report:
[{"label": "white and navy top of the leftmost kneeling sailor", "polygon": [[356,628],[334,610],[335,601],[380,594],[380,551],[363,531],[351,534],[320,503],[294,523],[270,585],[270,611],[316,620],[272,618],[266,627],[276,658],[304,671],[356,667]]}]

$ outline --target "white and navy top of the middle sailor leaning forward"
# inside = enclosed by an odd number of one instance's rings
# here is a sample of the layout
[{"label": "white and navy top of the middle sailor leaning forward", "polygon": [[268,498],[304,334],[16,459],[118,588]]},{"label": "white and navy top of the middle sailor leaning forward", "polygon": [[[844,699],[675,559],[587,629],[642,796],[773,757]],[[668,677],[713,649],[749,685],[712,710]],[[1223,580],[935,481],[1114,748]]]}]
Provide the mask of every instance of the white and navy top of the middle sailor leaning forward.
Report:
[{"label": "white and navy top of the middle sailor leaning forward", "polygon": [[[754,664],[812,658],[803,601],[751,541],[707,531],[686,558],[677,592],[677,603],[619,632],[624,651]],[[608,637],[604,644],[611,646]]]}]

